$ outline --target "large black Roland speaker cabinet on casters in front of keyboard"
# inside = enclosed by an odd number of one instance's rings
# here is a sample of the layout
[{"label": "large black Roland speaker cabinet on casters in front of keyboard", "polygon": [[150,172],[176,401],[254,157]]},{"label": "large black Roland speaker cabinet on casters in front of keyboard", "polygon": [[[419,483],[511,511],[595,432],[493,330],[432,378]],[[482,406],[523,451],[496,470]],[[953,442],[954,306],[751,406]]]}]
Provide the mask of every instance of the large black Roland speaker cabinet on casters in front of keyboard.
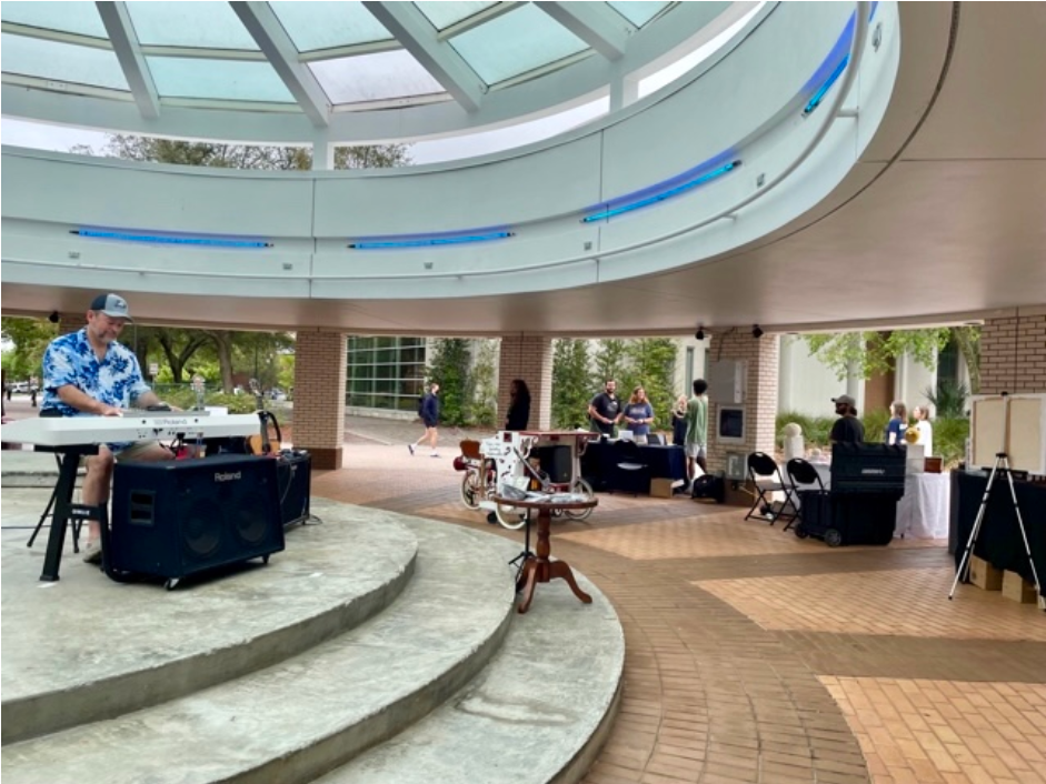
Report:
[{"label": "large black Roland speaker cabinet on casters in front of keyboard", "polygon": [[218,455],[118,463],[111,563],[177,581],[283,549],[277,461]]}]

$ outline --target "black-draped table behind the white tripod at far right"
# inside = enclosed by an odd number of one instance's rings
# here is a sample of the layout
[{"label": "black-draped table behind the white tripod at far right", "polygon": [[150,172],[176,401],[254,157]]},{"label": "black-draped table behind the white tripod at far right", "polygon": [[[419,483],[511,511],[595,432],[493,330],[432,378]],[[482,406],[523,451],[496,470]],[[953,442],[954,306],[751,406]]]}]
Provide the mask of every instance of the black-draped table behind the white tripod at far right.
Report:
[{"label": "black-draped table behind the white tripod at far right", "polygon": [[[963,560],[977,511],[988,484],[984,472],[952,472],[952,535],[950,547],[955,552],[958,569]],[[1028,535],[1028,545],[1039,580],[1046,580],[1046,484],[1014,481],[1017,505]],[[1017,572],[1033,582],[1032,565],[1025,552],[1024,540],[1017,525],[1014,502],[1009,495],[1009,483],[1002,474],[996,476],[992,496],[985,510],[984,521],[977,534],[974,555],[984,559],[996,569]]]}]

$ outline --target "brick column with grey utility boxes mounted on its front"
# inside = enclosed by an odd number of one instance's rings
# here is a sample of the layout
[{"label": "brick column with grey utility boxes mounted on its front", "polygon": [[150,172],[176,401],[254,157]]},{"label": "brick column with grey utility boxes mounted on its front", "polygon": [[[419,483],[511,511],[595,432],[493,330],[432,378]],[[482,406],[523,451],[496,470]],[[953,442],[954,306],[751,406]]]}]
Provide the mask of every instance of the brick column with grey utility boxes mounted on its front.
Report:
[{"label": "brick column with grey utility boxes mounted on its front", "polygon": [[753,338],[747,328],[737,328],[724,334],[713,334],[708,349],[711,360],[745,360],[748,362],[748,384],[745,394],[745,443],[720,444],[716,439],[719,404],[727,401],[708,400],[708,470],[726,470],[727,452],[766,452],[774,454],[777,441],[777,379],[780,364],[780,336],[765,334]]}]

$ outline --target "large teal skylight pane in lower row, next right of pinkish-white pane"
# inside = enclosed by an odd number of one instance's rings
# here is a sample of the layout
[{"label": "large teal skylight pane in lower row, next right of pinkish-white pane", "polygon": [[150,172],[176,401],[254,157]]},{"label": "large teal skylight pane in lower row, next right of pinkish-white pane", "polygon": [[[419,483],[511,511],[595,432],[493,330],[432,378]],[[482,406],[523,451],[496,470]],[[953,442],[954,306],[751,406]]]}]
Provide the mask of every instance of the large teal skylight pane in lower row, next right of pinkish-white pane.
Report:
[{"label": "large teal skylight pane in lower row, next right of pinkish-white pane", "polygon": [[588,49],[585,41],[532,3],[450,39],[487,84],[517,77]]}]

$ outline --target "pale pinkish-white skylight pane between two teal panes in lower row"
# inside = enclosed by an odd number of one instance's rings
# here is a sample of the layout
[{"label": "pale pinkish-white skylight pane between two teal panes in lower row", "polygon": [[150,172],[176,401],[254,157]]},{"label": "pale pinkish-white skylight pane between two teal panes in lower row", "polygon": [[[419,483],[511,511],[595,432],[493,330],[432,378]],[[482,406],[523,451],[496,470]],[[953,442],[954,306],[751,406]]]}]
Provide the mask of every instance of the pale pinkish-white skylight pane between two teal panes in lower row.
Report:
[{"label": "pale pinkish-white skylight pane between two teal panes in lower row", "polygon": [[376,52],[310,62],[309,68],[333,103],[381,101],[444,92],[410,52]]}]

